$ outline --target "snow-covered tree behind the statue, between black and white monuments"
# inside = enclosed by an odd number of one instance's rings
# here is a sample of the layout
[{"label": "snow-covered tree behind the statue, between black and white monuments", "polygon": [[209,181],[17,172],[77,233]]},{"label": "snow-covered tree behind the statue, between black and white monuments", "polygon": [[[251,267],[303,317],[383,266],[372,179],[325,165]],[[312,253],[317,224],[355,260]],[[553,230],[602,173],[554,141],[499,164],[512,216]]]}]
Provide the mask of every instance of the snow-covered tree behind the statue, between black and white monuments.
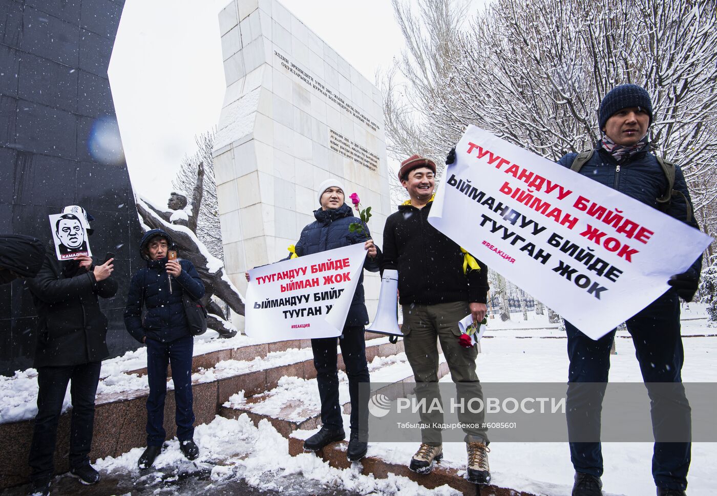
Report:
[{"label": "snow-covered tree behind the statue, between black and white monuments", "polygon": [[199,212],[192,212],[197,216],[196,237],[206,245],[214,257],[223,260],[224,249],[222,248],[222,230],[219,226],[217,183],[214,181],[214,158],[212,157],[214,134],[212,130],[194,137],[196,152],[182,159],[179,171],[172,180],[172,187],[191,193],[196,183],[197,166],[199,163],[204,163],[204,194],[201,198]]}]

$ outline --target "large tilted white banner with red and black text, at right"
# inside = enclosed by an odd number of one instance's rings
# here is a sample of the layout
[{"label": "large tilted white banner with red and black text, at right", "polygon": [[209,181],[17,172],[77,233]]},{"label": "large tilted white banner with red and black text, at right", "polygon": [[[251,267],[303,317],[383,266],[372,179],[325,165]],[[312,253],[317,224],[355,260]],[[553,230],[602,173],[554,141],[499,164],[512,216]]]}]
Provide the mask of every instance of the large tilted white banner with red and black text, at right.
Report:
[{"label": "large tilted white banner with red and black text, at right", "polygon": [[433,203],[436,229],[593,339],[662,295],[712,241],[473,125]]}]

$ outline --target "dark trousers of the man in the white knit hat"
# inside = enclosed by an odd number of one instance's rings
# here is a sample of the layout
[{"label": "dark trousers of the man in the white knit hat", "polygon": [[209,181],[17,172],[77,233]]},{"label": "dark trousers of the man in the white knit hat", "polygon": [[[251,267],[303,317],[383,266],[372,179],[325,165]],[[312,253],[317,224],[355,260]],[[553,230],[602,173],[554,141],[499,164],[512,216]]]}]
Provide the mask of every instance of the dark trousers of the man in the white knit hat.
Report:
[{"label": "dark trousers of the man in the white knit hat", "polygon": [[[369,396],[359,404],[359,383],[369,383],[369,367],[366,365],[366,340],[364,326],[346,326],[338,339],[341,356],[348,376],[348,396],[351,399],[351,431],[366,436],[369,431]],[[321,399],[321,423],[331,429],[343,429],[341,404],[338,402],[338,364],[336,338],[311,340],[316,368],[318,396]],[[365,440],[365,439],[364,439]]]}]

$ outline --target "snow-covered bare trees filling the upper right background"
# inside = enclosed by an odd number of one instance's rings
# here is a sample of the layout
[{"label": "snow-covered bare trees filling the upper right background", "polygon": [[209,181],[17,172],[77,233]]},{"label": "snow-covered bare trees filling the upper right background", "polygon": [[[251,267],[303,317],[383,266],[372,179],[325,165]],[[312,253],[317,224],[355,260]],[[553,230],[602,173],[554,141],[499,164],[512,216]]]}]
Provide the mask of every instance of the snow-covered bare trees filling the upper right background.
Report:
[{"label": "snow-covered bare trees filling the upper right background", "polygon": [[556,160],[599,139],[600,100],[633,82],[652,97],[655,152],[683,168],[698,215],[714,203],[712,0],[495,0],[472,16],[451,0],[394,9],[407,48],[402,77],[384,77],[389,153],[419,146],[442,158],[475,124]]}]

